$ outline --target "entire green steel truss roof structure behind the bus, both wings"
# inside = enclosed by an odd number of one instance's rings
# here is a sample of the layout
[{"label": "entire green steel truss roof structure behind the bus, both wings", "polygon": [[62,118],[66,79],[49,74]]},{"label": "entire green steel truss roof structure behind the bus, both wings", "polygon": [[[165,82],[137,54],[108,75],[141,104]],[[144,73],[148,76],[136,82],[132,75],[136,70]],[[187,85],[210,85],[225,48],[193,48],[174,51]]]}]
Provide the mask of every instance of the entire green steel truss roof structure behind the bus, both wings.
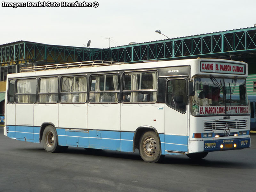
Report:
[{"label": "entire green steel truss roof structure behind the bus, both wings", "polygon": [[[0,45],[0,64],[65,63],[90,60],[140,62],[256,53],[256,28],[244,28],[154,42],[96,49],[19,41]],[[254,55],[254,57],[256,57]]]}]

